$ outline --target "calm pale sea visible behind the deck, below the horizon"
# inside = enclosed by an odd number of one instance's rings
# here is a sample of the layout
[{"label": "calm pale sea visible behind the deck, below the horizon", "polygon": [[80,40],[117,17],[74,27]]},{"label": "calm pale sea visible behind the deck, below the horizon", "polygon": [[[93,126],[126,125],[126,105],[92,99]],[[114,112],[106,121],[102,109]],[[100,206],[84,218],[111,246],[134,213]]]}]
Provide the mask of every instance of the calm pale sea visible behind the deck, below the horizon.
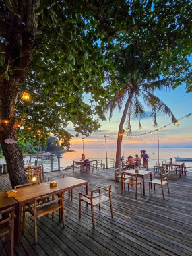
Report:
[{"label": "calm pale sea visible behind the deck, below the horizon", "polygon": [[[143,149],[144,150],[144,149]],[[158,148],[146,148],[146,153],[150,157],[149,166],[156,165],[158,162]],[[82,157],[82,149],[74,149],[74,152],[65,152],[60,158],[60,166],[65,168],[66,166],[71,166],[73,164],[73,160],[78,160]],[[107,152],[105,148],[84,148],[84,154],[86,158],[90,160],[100,159],[103,163],[106,162],[106,154],[108,157],[108,166],[110,159],[115,160],[116,149],[108,148]],[[123,154],[123,152],[122,152]],[[124,148],[124,159],[126,159],[129,155],[135,157],[135,154],[141,155],[140,148]],[[159,150],[159,162],[162,164],[163,160],[170,161],[170,158],[174,161],[174,156],[192,158],[192,148],[160,148]],[[24,164],[28,164],[29,157],[24,158]],[[35,158],[32,158],[32,165],[34,164]],[[5,164],[5,159],[0,159],[0,164]],[[42,161],[39,164],[43,164],[44,171],[51,170],[51,161]],[[192,162],[189,162],[189,165],[192,165]],[[55,156],[53,160],[53,170],[58,170],[58,159]]]}]

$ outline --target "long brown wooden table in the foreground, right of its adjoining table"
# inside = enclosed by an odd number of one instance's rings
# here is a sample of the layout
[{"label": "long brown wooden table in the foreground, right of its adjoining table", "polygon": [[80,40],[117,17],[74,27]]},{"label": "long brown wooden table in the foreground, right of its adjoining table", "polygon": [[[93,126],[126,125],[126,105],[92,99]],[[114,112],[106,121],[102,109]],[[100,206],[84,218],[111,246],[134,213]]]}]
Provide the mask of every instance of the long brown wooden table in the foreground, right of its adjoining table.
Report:
[{"label": "long brown wooden table in the foreground, right of its adjoining table", "polygon": [[18,242],[21,238],[21,218],[22,218],[22,207],[26,203],[32,203],[36,197],[43,197],[50,195],[51,193],[59,193],[68,191],[69,189],[74,189],[75,187],[80,187],[86,185],[86,194],[89,193],[89,181],[83,179],[77,179],[74,177],[65,177],[62,179],[55,179],[57,182],[57,187],[50,187],[49,182],[40,183],[37,185],[32,185],[28,187],[21,187],[16,189],[17,193],[14,196],[15,201],[18,201],[18,225],[17,225],[17,237]]}]

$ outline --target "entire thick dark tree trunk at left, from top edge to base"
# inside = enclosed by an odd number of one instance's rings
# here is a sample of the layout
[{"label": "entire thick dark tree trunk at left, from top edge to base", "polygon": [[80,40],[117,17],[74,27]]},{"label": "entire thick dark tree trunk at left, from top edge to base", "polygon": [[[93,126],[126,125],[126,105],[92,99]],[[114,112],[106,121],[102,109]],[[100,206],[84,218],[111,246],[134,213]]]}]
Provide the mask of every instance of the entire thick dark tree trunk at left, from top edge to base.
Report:
[{"label": "entire thick dark tree trunk at left, from top edge to base", "polygon": [[20,86],[28,75],[36,49],[36,9],[40,6],[40,0],[5,1],[2,6],[0,26],[1,37],[5,39],[5,63],[0,70],[0,143],[11,185],[14,187],[27,183],[28,179],[18,144],[7,144],[5,139],[16,140],[15,104],[19,103],[17,98]]}]

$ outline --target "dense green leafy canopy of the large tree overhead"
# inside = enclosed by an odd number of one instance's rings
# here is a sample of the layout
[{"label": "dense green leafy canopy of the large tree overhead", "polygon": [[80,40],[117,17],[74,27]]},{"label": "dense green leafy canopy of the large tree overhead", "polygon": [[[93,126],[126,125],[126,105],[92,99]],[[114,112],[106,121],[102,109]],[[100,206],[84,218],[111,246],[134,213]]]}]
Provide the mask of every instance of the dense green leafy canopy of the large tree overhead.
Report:
[{"label": "dense green leafy canopy of the large tree overhead", "polygon": [[[41,0],[33,13],[26,6],[38,1],[17,2],[0,3],[0,86],[9,88],[6,83],[17,77],[15,86],[32,92],[30,102],[16,106],[14,119],[22,121],[26,140],[36,145],[40,140],[45,146],[51,132],[69,148],[69,125],[77,135],[96,131],[100,124],[95,117],[105,119],[106,101],[117,92],[113,53],[133,42],[146,63],[152,61],[150,68],[158,70],[165,86],[176,88],[184,82],[187,92],[191,90],[190,1]],[[35,20],[32,28],[29,17]],[[108,77],[110,90],[103,85]],[[139,102],[137,109],[141,113]]]}]

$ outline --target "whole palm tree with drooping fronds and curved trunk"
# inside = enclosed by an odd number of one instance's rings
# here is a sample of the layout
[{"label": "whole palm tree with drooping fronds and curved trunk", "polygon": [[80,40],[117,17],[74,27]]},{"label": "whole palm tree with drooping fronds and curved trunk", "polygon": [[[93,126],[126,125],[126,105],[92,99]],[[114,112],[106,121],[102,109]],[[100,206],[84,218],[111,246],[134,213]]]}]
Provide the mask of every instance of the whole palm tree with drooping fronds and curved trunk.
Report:
[{"label": "whole palm tree with drooping fronds and curved trunk", "polygon": [[[155,90],[161,90],[163,86],[170,88],[171,85],[171,79],[160,79],[161,63],[155,62],[154,59],[154,56],[146,56],[145,51],[139,49],[135,42],[126,49],[117,51],[113,57],[115,75],[110,75],[109,82],[116,91],[108,102],[110,117],[113,115],[113,110],[116,108],[121,110],[125,104],[119,123],[115,168],[120,166],[123,125],[126,121],[127,133],[131,134],[131,117],[139,118],[139,129],[141,129],[140,121],[146,115],[145,105],[152,109],[154,127],[158,126],[157,112],[170,116],[173,123],[177,121],[170,108],[154,95]],[[141,98],[144,104],[141,103]]]}]

